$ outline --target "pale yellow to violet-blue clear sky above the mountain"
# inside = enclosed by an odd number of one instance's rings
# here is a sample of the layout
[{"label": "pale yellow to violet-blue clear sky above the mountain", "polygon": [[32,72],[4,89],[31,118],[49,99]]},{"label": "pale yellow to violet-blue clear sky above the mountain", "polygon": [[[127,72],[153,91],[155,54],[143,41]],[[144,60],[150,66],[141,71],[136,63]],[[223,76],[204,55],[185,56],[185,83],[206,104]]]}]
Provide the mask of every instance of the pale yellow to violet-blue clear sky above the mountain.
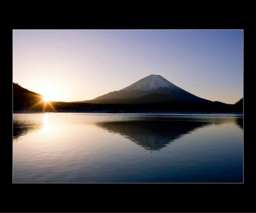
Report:
[{"label": "pale yellow to violet-blue clear sky above the mountain", "polygon": [[13,82],[90,100],[150,74],[194,95],[243,97],[243,30],[13,30]]}]

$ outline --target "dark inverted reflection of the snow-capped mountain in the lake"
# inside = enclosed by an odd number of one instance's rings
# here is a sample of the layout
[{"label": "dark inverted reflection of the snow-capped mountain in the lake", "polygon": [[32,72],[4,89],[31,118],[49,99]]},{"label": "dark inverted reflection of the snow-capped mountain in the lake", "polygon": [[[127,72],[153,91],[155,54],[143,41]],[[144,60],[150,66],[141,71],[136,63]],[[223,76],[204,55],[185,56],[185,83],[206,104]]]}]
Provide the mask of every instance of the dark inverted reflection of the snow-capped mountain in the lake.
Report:
[{"label": "dark inverted reflection of the snow-capped mountain in the lake", "polygon": [[[242,118],[243,121],[243,118]],[[196,129],[205,125],[230,122],[221,118],[147,118],[146,120],[124,122],[99,122],[99,127],[124,136],[147,150],[160,150]]]}]

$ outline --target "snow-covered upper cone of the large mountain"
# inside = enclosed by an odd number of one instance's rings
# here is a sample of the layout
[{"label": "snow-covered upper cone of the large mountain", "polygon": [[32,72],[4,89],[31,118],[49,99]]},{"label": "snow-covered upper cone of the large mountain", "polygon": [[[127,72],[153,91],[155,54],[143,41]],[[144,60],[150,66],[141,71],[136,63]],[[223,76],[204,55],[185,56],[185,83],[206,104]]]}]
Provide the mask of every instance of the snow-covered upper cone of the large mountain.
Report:
[{"label": "snow-covered upper cone of the large mountain", "polygon": [[140,79],[134,84],[125,87],[122,91],[132,91],[132,90],[143,90],[143,91],[150,91],[150,90],[157,90],[159,88],[175,88],[176,86],[170,81],[167,81],[161,75],[148,75],[143,79]]}]

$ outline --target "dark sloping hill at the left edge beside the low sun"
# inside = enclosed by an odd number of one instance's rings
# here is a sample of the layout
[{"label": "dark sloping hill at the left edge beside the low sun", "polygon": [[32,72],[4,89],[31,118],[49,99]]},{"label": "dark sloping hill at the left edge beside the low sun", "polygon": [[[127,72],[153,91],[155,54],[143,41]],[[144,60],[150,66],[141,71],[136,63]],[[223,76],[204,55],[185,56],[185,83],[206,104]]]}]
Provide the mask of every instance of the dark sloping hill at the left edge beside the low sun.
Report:
[{"label": "dark sloping hill at the left edge beside the low sun", "polygon": [[17,83],[13,83],[13,111],[40,109],[42,104],[35,106],[40,101],[42,101],[42,95],[22,88]]}]

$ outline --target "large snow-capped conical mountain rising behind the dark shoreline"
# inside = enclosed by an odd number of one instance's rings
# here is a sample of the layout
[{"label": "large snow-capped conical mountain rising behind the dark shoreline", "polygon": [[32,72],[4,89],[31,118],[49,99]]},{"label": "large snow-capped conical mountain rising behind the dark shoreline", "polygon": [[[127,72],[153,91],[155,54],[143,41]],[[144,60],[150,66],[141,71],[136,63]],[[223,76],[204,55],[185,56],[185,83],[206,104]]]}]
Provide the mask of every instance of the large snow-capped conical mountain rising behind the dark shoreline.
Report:
[{"label": "large snow-capped conical mountain rising behind the dark shoreline", "polygon": [[83,102],[95,104],[143,104],[156,102],[200,102],[212,101],[202,99],[170,83],[161,75],[148,75],[136,83],[119,91],[112,91],[93,100]]}]

